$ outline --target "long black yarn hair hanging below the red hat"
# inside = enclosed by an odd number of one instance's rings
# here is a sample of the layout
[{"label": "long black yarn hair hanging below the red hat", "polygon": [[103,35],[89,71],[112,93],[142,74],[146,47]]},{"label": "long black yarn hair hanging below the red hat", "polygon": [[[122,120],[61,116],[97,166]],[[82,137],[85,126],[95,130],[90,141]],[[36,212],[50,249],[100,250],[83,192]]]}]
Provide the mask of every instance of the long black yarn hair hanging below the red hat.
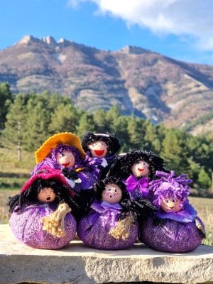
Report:
[{"label": "long black yarn hair hanging below the red hat", "polygon": [[25,206],[38,203],[38,193],[43,187],[51,187],[53,189],[56,195],[54,201],[56,206],[65,202],[72,208],[73,214],[80,209],[80,204],[76,200],[77,196],[74,195],[74,197],[72,197],[70,195],[71,192],[67,185],[62,185],[61,182],[52,179],[43,180],[38,178],[30,187],[28,187],[28,190],[24,190],[14,197],[9,197],[9,202],[7,203],[9,212],[12,213],[16,206],[18,206],[18,210],[20,210]]}]

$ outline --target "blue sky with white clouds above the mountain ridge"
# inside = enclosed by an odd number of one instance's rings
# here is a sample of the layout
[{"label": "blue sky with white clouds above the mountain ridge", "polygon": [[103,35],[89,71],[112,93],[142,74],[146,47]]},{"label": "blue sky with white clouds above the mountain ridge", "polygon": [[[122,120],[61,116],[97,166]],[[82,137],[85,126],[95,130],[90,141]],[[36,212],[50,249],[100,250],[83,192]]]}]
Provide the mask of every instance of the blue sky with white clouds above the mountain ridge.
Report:
[{"label": "blue sky with white clouds above the mountain ridge", "polygon": [[212,0],[1,0],[0,27],[1,50],[24,35],[52,35],[213,65]]}]

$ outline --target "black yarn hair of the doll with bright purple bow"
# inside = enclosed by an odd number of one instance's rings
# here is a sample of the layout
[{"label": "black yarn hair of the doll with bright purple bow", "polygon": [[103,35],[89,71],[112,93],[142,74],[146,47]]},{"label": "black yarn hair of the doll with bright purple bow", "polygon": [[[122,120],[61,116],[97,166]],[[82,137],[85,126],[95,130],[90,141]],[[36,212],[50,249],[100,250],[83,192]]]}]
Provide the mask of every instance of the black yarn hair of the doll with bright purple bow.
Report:
[{"label": "black yarn hair of the doll with bright purple bow", "polygon": [[146,150],[133,150],[124,155],[117,156],[108,170],[107,175],[114,175],[116,177],[121,177],[121,179],[126,179],[131,175],[131,167],[133,164],[138,163],[140,160],[144,160],[149,165],[148,178],[153,180],[156,170],[164,171],[170,173],[169,170],[165,168],[165,163],[163,158],[152,151]]}]

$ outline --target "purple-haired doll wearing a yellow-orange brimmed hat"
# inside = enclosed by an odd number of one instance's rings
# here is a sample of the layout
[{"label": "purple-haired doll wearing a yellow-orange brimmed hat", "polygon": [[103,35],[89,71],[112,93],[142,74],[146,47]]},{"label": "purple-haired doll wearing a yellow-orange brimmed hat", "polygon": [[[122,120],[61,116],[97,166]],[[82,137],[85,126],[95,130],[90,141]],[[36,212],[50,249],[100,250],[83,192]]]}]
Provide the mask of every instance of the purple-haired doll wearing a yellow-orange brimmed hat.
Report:
[{"label": "purple-haired doll wearing a yellow-orange brimmed hat", "polygon": [[84,158],[85,153],[78,136],[70,132],[57,133],[35,151],[37,164],[32,175],[43,165],[48,165],[61,170],[75,192],[88,190],[97,179]]}]

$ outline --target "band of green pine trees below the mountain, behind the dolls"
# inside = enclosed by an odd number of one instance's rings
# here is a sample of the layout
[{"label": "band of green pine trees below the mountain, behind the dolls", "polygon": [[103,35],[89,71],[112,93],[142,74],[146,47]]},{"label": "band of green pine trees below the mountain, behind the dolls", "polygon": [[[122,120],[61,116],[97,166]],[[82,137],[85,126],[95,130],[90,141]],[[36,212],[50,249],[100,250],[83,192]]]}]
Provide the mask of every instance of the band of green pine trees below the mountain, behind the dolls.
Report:
[{"label": "band of green pine trees below the mountain, behind the dolls", "polygon": [[124,116],[114,106],[94,113],[82,111],[60,94],[11,94],[9,84],[0,84],[0,146],[35,151],[46,138],[60,131],[82,136],[86,131],[116,132],[121,152],[146,149],[165,159],[169,169],[187,173],[198,190],[209,190],[213,169],[213,137],[192,136],[178,129],[154,126],[151,121]]}]

